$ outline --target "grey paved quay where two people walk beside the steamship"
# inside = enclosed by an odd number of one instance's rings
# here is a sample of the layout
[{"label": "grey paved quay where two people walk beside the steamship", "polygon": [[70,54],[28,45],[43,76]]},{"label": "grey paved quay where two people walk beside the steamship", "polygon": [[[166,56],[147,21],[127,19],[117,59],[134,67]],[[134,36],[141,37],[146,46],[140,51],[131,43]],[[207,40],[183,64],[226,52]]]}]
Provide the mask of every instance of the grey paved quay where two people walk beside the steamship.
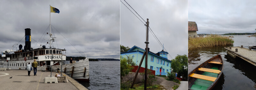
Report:
[{"label": "grey paved quay where two people walk beside the steamship", "polygon": [[[51,72],[37,71],[37,75],[34,76],[34,72],[31,71],[28,76],[27,70],[6,70],[0,71],[0,90],[88,90],[74,79],[68,77],[68,83],[44,83],[44,77],[51,75]],[[55,76],[56,72],[52,72]],[[60,73],[58,73],[60,74]],[[10,77],[12,77],[10,79]]]}]

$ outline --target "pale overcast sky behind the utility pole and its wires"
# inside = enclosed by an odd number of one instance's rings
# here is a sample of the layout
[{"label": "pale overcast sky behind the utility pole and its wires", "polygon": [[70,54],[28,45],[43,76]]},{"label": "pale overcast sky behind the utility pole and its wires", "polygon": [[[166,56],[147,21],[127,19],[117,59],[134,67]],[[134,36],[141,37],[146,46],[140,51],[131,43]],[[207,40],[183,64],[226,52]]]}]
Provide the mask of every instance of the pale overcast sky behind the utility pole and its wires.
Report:
[{"label": "pale overcast sky behind the utility pole and its wires", "polygon": [[[187,0],[126,0],[127,3],[121,1],[127,7],[129,3],[145,21],[149,19],[150,28],[173,59],[177,54],[188,55]],[[120,43],[130,48],[136,45],[145,49],[146,26],[123,3],[120,2]],[[148,47],[154,53],[163,49],[150,32]],[[171,60],[170,56],[168,59]]]}]

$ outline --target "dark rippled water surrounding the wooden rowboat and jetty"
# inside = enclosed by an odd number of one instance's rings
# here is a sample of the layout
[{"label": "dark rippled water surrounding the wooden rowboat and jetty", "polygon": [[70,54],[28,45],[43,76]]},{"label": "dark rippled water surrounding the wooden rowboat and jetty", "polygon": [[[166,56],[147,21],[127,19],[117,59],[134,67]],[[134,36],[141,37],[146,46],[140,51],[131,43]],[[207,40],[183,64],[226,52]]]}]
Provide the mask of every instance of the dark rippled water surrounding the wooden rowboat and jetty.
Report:
[{"label": "dark rippled water surrounding the wooden rowboat and jetty", "polygon": [[[232,46],[256,45],[256,37],[232,36],[235,41]],[[256,66],[230,57],[223,46],[189,50],[188,72],[219,53],[224,60],[224,70],[214,90],[256,90]]]}]

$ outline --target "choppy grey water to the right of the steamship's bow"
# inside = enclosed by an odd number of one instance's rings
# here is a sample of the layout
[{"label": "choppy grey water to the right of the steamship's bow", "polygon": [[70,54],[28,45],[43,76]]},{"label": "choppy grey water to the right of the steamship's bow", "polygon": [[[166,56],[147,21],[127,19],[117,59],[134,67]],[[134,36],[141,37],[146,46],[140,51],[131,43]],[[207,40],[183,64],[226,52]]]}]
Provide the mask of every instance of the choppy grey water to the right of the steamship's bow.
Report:
[{"label": "choppy grey water to the right of the steamship's bow", "polygon": [[79,82],[90,90],[120,90],[120,61],[90,61],[90,82]]}]

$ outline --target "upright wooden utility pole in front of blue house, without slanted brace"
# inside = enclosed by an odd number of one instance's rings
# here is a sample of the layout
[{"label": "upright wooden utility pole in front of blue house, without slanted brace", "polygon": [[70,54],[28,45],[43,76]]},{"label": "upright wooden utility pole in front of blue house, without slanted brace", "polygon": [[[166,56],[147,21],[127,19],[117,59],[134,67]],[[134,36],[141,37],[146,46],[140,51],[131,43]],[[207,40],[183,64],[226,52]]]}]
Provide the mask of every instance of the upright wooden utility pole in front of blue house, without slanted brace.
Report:
[{"label": "upright wooden utility pole in front of blue house, without slanted brace", "polygon": [[149,44],[149,42],[148,42],[148,18],[147,18],[147,38],[146,38],[146,42],[145,42],[145,44],[146,44],[146,61],[145,61],[145,82],[144,82],[144,90],[147,90],[147,80],[148,80],[148,50],[149,50],[149,48],[148,48],[148,44]]}]

